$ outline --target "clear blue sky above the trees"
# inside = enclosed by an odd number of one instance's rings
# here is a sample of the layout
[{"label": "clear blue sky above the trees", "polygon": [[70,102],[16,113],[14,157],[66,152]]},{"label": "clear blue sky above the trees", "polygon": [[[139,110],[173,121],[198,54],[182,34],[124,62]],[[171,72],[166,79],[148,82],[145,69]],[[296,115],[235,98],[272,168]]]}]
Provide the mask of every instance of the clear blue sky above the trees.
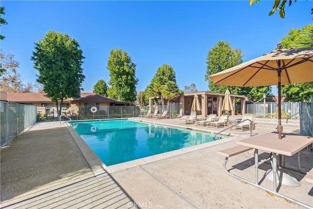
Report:
[{"label": "clear blue sky above the trees", "polygon": [[[208,50],[218,41],[240,48],[244,62],[273,50],[291,28],[313,23],[312,0],[292,1],[285,19],[268,16],[272,0],[249,5],[243,1],[7,1],[1,26],[2,53],[20,62],[22,82],[35,83],[30,60],[34,43],[48,30],[67,33],[83,50],[86,76],[83,92],[99,79],[110,80],[110,50],[121,48],[136,64],[137,92],[150,84],[158,67],[169,64],[180,89],[194,83],[208,91],[204,80]],[[273,88],[277,95],[277,89]]]}]

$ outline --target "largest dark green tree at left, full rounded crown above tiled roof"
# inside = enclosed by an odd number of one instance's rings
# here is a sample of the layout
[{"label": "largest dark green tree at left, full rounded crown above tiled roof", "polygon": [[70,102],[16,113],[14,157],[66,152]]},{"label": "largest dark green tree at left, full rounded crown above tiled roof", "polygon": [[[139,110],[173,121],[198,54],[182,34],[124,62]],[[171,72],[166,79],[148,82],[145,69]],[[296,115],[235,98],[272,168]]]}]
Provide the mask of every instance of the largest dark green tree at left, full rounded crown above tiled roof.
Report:
[{"label": "largest dark green tree at left, full rounded crown above tiled roof", "polygon": [[79,96],[85,80],[81,67],[84,58],[78,42],[65,33],[49,30],[35,43],[31,60],[38,70],[36,81],[43,85],[46,97],[56,103],[57,109],[60,101],[59,115],[64,99]]}]

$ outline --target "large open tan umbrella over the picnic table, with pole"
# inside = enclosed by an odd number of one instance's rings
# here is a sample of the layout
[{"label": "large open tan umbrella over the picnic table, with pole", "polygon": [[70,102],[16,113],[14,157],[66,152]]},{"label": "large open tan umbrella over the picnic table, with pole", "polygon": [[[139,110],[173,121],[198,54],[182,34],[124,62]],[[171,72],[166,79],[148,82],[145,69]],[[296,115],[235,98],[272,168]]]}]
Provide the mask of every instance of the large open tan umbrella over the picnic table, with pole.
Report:
[{"label": "large open tan umbrella over the picnic table, with pole", "polygon": [[281,85],[313,82],[313,48],[279,48],[209,77],[221,86],[278,85],[277,131],[281,139]]}]

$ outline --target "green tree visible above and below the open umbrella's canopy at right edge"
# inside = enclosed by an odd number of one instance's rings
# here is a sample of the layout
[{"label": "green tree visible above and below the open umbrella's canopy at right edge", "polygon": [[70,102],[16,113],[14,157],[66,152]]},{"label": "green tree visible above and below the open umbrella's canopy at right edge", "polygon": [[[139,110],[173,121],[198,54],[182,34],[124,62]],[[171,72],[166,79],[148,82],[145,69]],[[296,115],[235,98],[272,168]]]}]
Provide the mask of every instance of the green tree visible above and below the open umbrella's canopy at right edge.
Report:
[{"label": "green tree visible above and below the open umbrella's canopy at right edge", "polygon": [[[312,48],[313,47],[313,24],[303,26],[301,29],[293,29],[284,36],[280,42],[283,48]],[[313,91],[313,82],[292,84],[282,87],[285,101],[309,100]]]}]

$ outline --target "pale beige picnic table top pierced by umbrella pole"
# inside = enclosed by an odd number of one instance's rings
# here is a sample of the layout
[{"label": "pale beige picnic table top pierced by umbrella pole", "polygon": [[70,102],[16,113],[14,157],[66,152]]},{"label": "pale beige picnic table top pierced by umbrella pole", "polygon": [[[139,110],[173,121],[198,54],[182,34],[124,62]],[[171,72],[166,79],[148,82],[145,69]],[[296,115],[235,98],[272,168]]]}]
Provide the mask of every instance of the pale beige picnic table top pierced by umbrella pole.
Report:
[{"label": "pale beige picnic table top pierced by umbrella pole", "polygon": [[236,141],[236,144],[239,145],[286,156],[296,154],[311,143],[313,143],[312,136],[282,133],[282,139],[278,139],[278,132],[271,132]]}]

